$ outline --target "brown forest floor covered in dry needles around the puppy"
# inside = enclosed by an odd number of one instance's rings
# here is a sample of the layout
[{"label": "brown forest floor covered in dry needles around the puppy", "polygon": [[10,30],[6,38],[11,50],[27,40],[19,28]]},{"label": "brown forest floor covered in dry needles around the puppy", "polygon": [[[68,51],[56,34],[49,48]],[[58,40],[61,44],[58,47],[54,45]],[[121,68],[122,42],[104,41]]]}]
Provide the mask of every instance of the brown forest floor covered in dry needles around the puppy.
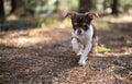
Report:
[{"label": "brown forest floor covered in dry needles around the puppy", "polygon": [[72,28],[1,32],[0,84],[132,84],[132,21],[112,19],[96,22],[110,50],[90,53],[85,67],[70,48]]}]

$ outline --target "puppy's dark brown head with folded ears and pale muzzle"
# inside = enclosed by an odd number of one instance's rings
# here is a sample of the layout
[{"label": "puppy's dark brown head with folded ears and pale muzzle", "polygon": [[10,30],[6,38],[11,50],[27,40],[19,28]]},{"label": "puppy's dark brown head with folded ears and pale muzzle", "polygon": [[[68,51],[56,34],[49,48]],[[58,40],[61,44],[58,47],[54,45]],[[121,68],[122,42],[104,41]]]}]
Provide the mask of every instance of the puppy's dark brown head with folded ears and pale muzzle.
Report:
[{"label": "puppy's dark brown head with folded ears and pale muzzle", "polygon": [[75,33],[77,35],[84,35],[85,32],[88,31],[89,25],[95,16],[98,16],[97,13],[76,13],[76,12],[68,12],[66,17],[69,16],[72,19],[72,24]]}]

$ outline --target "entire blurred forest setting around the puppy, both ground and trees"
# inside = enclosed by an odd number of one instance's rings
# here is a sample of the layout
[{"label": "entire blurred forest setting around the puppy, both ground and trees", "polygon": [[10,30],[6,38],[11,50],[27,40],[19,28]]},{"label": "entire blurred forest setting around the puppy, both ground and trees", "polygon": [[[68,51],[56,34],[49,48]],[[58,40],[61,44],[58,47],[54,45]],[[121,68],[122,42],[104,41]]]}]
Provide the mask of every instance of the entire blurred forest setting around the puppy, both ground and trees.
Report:
[{"label": "entire blurred forest setting around the puppy, both ground and trees", "polygon": [[[86,67],[69,11],[99,14]],[[132,84],[132,0],[0,0],[0,84]]]}]

